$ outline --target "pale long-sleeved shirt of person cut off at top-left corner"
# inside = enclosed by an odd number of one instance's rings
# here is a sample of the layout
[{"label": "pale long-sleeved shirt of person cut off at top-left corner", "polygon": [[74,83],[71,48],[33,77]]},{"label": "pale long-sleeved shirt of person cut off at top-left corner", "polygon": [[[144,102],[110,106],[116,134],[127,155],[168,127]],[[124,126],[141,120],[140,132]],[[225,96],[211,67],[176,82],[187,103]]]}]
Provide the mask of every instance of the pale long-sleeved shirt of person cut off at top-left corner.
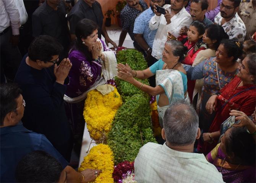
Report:
[{"label": "pale long-sleeved shirt of person cut off at top-left corner", "polygon": [[0,32],[11,25],[12,34],[19,34],[19,10],[14,0],[0,0]]}]

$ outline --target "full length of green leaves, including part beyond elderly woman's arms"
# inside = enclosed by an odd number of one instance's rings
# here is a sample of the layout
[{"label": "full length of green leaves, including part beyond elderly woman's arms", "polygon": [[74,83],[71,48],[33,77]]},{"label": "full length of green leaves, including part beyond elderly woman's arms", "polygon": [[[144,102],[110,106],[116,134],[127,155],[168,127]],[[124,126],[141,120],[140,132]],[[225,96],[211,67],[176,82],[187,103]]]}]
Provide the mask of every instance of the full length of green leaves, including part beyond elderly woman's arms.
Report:
[{"label": "full length of green leaves, including part beyond elderly woman's arms", "polygon": [[[117,62],[128,63],[134,70],[147,68],[143,55],[133,49],[119,51]],[[123,161],[134,161],[144,144],[156,140],[151,128],[149,95],[128,82],[118,78],[115,80],[124,103],[115,115],[107,144],[113,151],[115,164],[118,164]],[[149,84],[148,80],[139,81]]]}]

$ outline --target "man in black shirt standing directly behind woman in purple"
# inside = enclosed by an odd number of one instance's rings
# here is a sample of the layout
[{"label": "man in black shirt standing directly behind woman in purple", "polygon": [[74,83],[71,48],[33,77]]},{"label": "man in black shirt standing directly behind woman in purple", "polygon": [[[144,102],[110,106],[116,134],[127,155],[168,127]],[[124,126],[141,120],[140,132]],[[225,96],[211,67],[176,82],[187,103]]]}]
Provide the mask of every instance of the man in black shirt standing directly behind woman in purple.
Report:
[{"label": "man in black shirt standing directly behind woman in purple", "polygon": [[76,38],[75,29],[77,22],[84,18],[90,19],[97,23],[97,25],[99,26],[99,39],[101,39],[101,35],[103,35],[105,37],[105,43],[107,44],[107,46],[108,43],[111,43],[114,47],[117,47],[117,44],[109,38],[105,26],[103,26],[104,16],[100,3],[98,3],[96,0],[79,0],[70,11],[68,21],[70,23],[71,40],[74,40]]}]

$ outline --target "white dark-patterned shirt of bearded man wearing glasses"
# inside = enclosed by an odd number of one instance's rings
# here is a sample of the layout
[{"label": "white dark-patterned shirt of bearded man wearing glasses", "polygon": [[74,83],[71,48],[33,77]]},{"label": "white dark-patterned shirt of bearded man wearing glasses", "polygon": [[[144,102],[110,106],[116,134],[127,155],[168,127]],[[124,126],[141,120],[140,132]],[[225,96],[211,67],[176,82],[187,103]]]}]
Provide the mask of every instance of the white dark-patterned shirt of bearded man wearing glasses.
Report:
[{"label": "white dark-patterned shirt of bearded man wearing glasses", "polygon": [[[215,16],[214,23],[221,25],[222,16],[220,12]],[[246,35],[245,24],[242,19],[236,13],[235,16],[228,22],[222,25],[223,29],[229,36],[229,39],[236,38],[238,41],[243,41]]]}]

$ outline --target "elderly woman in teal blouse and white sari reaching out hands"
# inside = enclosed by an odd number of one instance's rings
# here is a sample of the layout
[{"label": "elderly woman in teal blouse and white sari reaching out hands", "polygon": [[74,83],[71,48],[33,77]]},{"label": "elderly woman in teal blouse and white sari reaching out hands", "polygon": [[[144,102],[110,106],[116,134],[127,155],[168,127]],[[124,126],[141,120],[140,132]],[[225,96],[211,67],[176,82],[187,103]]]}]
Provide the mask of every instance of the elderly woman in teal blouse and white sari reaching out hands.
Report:
[{"label": "elderly woman in teal blouse and white sari reaching out hands", "polygon": [[[169,40],[165,43],[162,59],[143,71],[134,71],[128,64],[118,64],[118,77],[149,95],[156,95],[157,110],[159,113],[160,126],[164,112],[169,104],[180,98],[187,98],[187,77],[186,71],[181,62],[185,58],[187,48],[178,40]],[[156,87],[144,85],[138,79],[147,79],[156,75]],[[189,99],[188,99],[189,100]]]}]

